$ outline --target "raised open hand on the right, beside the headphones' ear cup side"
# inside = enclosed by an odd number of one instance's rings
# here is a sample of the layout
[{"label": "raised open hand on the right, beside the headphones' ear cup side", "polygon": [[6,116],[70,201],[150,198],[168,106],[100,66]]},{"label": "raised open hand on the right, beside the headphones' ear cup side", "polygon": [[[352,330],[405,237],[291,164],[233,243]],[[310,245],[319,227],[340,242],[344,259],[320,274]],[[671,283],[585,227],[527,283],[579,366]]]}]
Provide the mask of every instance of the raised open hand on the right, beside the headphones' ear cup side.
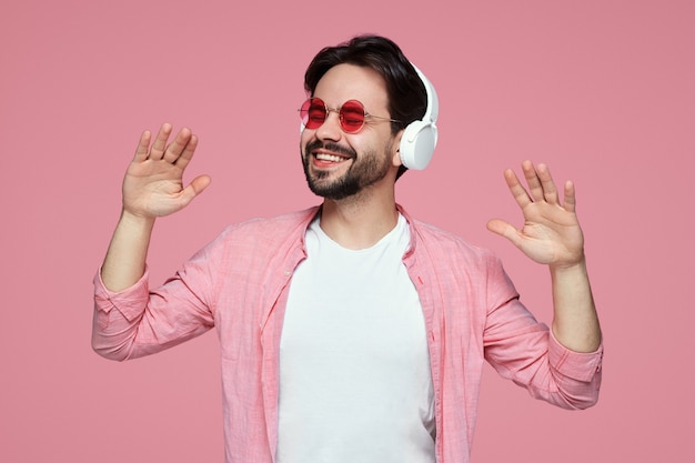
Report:
[{"label": "raised open hand on the right, beside the headphones' ear cup side", "polygon": [[508,239],[532,260],[554,268],[567,268],[584,260],[584,236],[575,213],[575,190],[572,182],[564,185],[561,201],[555,182],[545,164],[522,163],[528,190],[524,189],[511,169],[504,179],[524,215],[524,225],[494,219],[487,229]]}]

